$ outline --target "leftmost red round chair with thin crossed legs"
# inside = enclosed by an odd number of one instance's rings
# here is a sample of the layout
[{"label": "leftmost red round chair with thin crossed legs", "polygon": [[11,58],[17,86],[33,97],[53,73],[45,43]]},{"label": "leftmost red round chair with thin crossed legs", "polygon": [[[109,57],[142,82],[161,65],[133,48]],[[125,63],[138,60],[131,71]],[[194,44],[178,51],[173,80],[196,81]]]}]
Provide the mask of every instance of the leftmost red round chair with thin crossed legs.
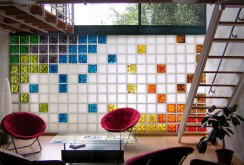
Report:
[{"label": "leftmost red round chair with thin crossed legs", "polygon": [[[46,123],[39,116],[29,112],[14,112],[3,118],[1,122],[1,127],[5,133],[11,136],[11,142],[7,146],[7,149],[9,148],[11,143],[13,143],[14,148],[11,148],[9,150],[14,149],[16,153],[18,153],[17,149],[29,147],[37,141],[40,150],[28,154],[38,153],[42,150],[38,137],[40,137],[44,133],[46,129]],[[14,139],[35,140],[30,145],[16,147]]]}]

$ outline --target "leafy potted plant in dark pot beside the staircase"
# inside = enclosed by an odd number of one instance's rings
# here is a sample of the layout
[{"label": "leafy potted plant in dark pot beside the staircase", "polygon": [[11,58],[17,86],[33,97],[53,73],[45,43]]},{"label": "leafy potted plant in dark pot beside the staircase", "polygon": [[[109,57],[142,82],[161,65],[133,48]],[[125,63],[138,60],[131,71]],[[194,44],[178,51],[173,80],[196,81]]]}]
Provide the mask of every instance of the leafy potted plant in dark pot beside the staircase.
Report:
[{"label": "leafy potted plant in dark pot beside the staircase", "polygon": [[212,127],[208,136],[203,136],[197,144],[197,150],[199,153],[205,153],[208,143],[216,144],[217,139],[222,141],[223,148],[216,150],[217,159],[219,163],[231,165],[233,151],[225,148],[225,136],[234,135],[231,125],[240,125],[244,122],[244,119],[235,114],[237,111],[237,104],[232,107],[216,108],[215,105],[208,109],[206,117],[202,120],[201,128],[207,126]]}]

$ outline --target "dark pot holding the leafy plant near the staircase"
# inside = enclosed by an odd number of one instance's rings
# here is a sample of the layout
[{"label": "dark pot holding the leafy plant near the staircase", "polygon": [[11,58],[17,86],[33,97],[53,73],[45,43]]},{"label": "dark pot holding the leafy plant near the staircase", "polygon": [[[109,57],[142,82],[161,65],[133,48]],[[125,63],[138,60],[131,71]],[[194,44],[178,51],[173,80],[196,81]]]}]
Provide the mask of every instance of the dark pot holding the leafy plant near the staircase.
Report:
[{"label": "dark pot holding the leafy plant near the staircase", "polygon": [[218,149],[215,152],[217,155],[218,163],[231,165],[234,151],[228,149]]}]

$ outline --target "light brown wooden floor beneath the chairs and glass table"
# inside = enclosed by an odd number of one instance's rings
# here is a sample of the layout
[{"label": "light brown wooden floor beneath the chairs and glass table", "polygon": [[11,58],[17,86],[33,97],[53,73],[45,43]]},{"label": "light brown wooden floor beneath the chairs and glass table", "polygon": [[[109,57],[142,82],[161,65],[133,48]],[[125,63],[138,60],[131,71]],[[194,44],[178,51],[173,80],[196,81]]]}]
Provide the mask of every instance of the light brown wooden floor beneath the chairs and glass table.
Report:
[{"label": "light brown wooden floor beneath the chairs and glass table", "polygon": [[[178,143],[177,136],[135,136],[137,139],[136,144],[127,144],[125,148],[125,161],[133,157],[135,155],[157,150],[163,149],[167,147],[175,147],[175,146],[191,146],[195,148],[195,151],[187,157],[184,161],[183,165],[189,165],[190,161],[194,158],[209,160],[209,161],[217,161],[215,150],[219,148],[218,146],[208,146],[208,150],[205,154],[199,154],[196,150],[196,143],[199,141],[201,136],[184,136],[182,138],[181,143]],[[53,136],[42,136],[40,137],[40,142],[42,145],[42,152],[35,155],[28,156],[29,158],[35,160],[51,160],[51,159],[58,159],[61,160],[61,152],[60,150],[63,149],[62,144],[50,144],[49,141],[53,138]],[[23,145],[23,141],[18,141],[17,145]],[[4,148],[5,146],[1,146]],[[33,146],[33,149],[37,147]],[[20,153],[28,152],[28,150],[20,150]],[[233,160],[234,165],[243,165],[237,159]]]}]

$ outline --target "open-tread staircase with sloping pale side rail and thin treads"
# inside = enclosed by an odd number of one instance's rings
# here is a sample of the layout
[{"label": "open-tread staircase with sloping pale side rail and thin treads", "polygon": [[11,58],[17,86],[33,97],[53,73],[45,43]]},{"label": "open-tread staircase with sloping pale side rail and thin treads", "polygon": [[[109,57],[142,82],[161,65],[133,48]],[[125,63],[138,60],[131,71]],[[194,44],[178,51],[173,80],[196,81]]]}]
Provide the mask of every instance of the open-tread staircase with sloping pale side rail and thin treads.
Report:
[{"label": "open-tread staircase with sloping pale side rail and thin treads", "polygon": [[[236,19],[234,21],[220,21],[221,16],[227,8],[238,8]],[[207,130],[201,130],[201,119],[206,114],[206,109],[211,105],[216,105],[217,108],[222,106],[231,106],[238,94],[238,91],[244,88],[244,55],[229,54],[228,50],[231,45],[244,44],[244,39],[237,38],[234,35],[235,28],[244,26],[244,21],[240,19],[240,13],[244,8],[243,5],[219,5],[216,4],[213,9],[212,17],[208,26],[208,31],[205,36],[203,48],[200,54],[194,79],[191,84],[188,98],[186,101],[185,111],[178,130],[179,142],[185,134],[208,134]],[[244,10],[244,9],[243,9]],[[228,37],[217,37],[217,29],[221,27],[229,27],[230,34]],[[214,44],[224,44],[221,54],[212,54],[211,49]],[[239,46],[239,45],[238,45]],[[243,45],[244,46],[244,45]],[[218,49],[218,47],[217,47]],[[211,60],[218,61],[217,68],[209,69],[208,62]],[[240,64],[238,69],[224,66],[230,61]],[[213,65],[213,64],[212,64]],[[210,82],[202,82],[202,77],[209,79]],[[229,82],[231,80],[231,82]],[[233,81],[235,80],[235,81]],[[199,93],[200,88],[209,89],[208,92]],[[219,89],[221,88],[221,90]],[[201,112],[201,113],[199,113]],[[193,122],[191,122],[193,121]],[[188,128],[195,127],[196,131],[186,131]],[[200,131],[198,131],[200,130]]]}]

